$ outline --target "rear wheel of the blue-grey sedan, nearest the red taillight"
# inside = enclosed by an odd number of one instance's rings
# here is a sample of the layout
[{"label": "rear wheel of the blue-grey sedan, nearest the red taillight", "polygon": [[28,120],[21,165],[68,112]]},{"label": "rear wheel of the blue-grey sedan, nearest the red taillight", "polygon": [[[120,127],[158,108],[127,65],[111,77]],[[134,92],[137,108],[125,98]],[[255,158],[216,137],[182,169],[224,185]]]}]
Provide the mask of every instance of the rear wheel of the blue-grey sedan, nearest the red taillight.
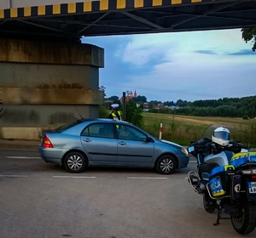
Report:
[{"label": "rear wheel of the blue-grey sedan, nearest the red taillight", "polygon": [[64,158],[64,167],[70,173],[80,173],[84,170],[86,161],[79,152],[68,153]]}]

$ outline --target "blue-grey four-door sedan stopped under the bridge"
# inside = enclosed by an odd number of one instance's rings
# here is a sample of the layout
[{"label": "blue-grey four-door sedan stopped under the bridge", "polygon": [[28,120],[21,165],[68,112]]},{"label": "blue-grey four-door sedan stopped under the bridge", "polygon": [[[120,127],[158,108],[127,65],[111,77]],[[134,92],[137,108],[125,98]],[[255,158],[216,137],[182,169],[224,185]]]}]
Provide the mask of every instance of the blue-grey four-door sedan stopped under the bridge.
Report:
[{"label": "blue-grey four-door sedan stopped under the bridge", "polygon": [[189,154],[181,145],[111,119],[80,119],[43,131],[38,151],[44,161],[64,165],[70,173],[90,166],[111,166],[151,167],[157,173],[170,174],[189,163]]}]

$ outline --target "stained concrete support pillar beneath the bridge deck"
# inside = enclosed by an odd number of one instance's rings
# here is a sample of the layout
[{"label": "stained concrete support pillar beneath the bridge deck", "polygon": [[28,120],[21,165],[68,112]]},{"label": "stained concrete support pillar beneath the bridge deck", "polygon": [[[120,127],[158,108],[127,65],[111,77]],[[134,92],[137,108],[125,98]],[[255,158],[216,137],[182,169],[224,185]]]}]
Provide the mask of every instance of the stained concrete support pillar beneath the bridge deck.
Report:
[{"label": "stained concrete support pillar beneath the bridge deck", "polygon": [[98,117],[104,49],[0,38],[0,138],[38,139],[42,129]]}]

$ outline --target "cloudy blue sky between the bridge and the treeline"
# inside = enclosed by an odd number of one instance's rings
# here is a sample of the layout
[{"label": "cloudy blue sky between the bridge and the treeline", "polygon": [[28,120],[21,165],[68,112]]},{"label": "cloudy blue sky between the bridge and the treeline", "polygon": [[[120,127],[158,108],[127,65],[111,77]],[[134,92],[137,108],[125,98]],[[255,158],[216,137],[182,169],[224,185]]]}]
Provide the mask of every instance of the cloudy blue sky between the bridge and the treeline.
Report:
[{"label": "cloudy blue sky between the bridge and the treeline", "polygon": [[256,95],[256,52],[241,29],[86,37],[105,50],[107,98],[137,91],[148,101]]}]

